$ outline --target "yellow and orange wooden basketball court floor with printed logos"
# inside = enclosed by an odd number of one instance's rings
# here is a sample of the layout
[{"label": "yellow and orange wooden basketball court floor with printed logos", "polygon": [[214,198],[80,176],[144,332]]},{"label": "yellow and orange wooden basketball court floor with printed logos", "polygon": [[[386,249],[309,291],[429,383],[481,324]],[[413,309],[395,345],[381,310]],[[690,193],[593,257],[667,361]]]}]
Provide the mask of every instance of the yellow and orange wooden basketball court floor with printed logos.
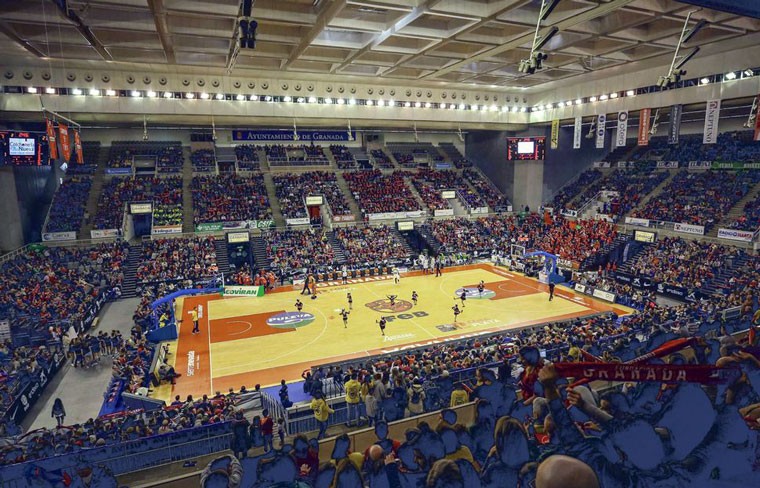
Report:
[{"label": "yellow and orange wooden basketball court floor with printed logos", "polygon": [[[483,296],[478,283],[485,282]],[[236,391],[278,384],[281,379],[301,379],[312,365],[393,352],[402,347],[424,345],[497,330],[578,317],[613,310],[626,314],[630,309],[610,305],[564,287],[555,289],[548,300],[548,287],[535,279],[490,265],[473,265],[444,270],[436,278],[413,272],[371,281],[323,283],[317,298],[300,294],[300,287],[278,289],[264,297],[202,295],[180,299],[177,316],[184,317],[179,339],[171,347],[170,360],[182,377],[174,386],[163,385],[154,396],[165,400],[174,395],[199,396],[215,391]],[[472,288],[465,307],[455,298],[461,288]],[[419,294],[415,306],[412,291]],[[341,309],[348,309],[347,293],[353,308],[344,327]],[[396,295],[395,306],[388,296]],[[303,302],[301,314],[295,302]],[[462,309],[454,322],[452,307]],[[193,335],[186,311],[199,307],[199,334]],[[385,336],[377,321],[388,320]]]}]

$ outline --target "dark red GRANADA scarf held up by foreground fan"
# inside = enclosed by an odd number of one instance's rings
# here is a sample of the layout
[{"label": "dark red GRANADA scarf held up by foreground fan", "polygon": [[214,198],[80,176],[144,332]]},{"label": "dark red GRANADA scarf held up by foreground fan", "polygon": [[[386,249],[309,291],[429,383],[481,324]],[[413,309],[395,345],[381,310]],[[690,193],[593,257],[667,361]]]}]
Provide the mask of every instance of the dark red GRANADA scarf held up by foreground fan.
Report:
[{"label": "dark red GRANADA scarf held up by foreground fan", "polygon": [[561,376],[607,381],[725,383],[741,376],[739,368],[693,364],[554,363]]}]

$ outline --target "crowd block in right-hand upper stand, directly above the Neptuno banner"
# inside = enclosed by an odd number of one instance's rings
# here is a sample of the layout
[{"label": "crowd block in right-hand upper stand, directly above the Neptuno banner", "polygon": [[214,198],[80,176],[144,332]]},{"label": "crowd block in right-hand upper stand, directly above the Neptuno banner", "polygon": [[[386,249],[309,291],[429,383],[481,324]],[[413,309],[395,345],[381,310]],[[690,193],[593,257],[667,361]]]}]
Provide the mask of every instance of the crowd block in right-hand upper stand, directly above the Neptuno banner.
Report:
[{"label": "crowd block in right-hand upper stand, directly above the Neptuno banner", "polygon": [[701,225],[708,230],[760,181],[760,171],[679,171],[633,217]]}]

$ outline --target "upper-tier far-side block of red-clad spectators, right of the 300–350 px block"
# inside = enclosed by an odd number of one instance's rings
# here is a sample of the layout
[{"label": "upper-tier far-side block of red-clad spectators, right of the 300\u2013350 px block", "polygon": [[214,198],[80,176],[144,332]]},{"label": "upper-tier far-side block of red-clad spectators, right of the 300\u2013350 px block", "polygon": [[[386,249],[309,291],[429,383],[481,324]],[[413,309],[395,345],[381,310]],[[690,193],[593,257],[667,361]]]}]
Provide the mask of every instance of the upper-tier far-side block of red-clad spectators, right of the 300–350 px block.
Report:
[{"label": "upper-tier far-side block of red-clad spectators, right of the 300\u2013350 px block", "polygon": [[365,217],[373,213],[420,210],[401,174],[385,175],[375,169],[343,173],[343,178]]}]

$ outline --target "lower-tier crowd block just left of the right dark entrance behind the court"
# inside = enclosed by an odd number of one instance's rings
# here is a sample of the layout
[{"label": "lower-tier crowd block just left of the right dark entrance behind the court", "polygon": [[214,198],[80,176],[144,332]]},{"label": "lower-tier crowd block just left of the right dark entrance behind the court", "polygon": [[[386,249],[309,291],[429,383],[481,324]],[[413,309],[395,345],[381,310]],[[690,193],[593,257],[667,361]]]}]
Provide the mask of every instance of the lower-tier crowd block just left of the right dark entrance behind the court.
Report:
[{"label": "lower-tier crowd block just left of the right dark entrance behind the court", "polygon": [[347,264],[362,265],[405,259],[409,250],[391,227],[342,227],[335,231]]}]

